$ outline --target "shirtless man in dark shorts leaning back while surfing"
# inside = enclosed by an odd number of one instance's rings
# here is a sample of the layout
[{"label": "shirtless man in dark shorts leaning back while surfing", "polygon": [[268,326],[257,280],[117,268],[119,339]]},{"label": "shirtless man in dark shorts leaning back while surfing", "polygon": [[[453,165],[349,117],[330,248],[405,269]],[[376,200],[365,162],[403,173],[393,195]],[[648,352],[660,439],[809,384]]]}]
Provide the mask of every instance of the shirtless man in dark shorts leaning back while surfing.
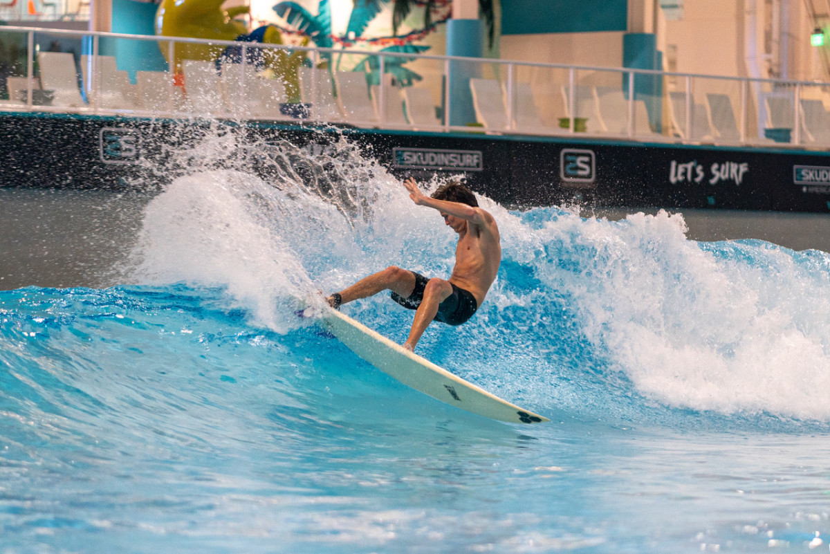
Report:
[{"label": "shirtless man in dark shorts leaning back while surfing", "polygon": [[414,350],[433,319],[460,325],[476,313],[496,279],[501,263],[501,246],[496,220],[478,207],[476,195],[461,183],[447,182],[438,187],[432,197],[424,196],[412,177],[403,182],[403,186],[409,191],[413,202],[439,211],[445,224],[458,233],[456,265],[452,268],[450,279],[427,279],[392,265],[339,293],[331,294],[327,300],[337,309],[352,300],[391,290],[395,302],[416,310],[409,338],[403,343],[403,347]]}]

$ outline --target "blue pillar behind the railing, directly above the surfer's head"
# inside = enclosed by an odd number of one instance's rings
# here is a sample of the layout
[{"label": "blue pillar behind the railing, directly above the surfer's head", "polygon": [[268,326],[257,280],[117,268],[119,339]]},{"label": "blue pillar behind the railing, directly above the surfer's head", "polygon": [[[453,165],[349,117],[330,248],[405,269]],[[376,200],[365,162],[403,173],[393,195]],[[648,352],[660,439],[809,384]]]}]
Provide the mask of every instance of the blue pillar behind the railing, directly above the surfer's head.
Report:
[{"label": "blue pillar behind the railing, directly above the surfer's head", "polygon": [[[447,56],[479,58],[483,54],[481,20],[450,19],[447,21]],[[481,75],[481,66],[476,62],[455,61],[450,63],[450,124],[466,125],[476,121],[476,110],[472,107],[470,79]],[[447,75],[445,75],[447,78]]]}]

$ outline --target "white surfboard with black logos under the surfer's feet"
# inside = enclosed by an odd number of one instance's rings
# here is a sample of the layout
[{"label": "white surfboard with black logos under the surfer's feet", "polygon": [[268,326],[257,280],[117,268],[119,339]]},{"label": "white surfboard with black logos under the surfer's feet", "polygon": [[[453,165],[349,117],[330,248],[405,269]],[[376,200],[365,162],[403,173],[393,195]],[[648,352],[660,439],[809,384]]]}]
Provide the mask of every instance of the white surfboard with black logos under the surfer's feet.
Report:
[{"label": "white surfboard with black logos under the surfer's feet", "polygon": [[323,323],[359,357],[436,400],[493,420],[510,423],[549,421],[464,381],[339,311],[326,309]]}]

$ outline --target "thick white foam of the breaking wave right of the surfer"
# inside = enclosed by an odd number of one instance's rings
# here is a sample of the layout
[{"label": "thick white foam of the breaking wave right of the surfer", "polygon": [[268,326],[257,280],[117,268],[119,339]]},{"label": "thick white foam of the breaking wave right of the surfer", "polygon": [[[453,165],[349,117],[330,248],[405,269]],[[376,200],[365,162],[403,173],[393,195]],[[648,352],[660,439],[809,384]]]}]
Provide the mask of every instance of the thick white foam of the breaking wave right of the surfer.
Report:
[{"label": "thick white foam of the breaking wave right of the surfer", "polygon": [[[647,396],[701,411],[830,419],[828,255],[704,249],[681,216],[559,217],[519,239],[585,336]],[[532,253],[532,254],[531,254]],[[559,259],[556,259],[556,258]]]}]

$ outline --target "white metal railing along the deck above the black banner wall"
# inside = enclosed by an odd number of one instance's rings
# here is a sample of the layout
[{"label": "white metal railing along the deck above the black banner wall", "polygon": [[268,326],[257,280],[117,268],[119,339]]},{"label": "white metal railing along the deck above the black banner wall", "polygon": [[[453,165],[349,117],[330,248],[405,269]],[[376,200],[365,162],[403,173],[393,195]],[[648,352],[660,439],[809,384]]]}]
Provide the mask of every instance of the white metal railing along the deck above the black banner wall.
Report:
[{"label": "white metal railing along the deck above the black banner wall", "polygon": [[[709,75],[709,74],[696,74],[696,73],[681,73],[676,71],[661,71],[661,70],[648,70],[648,69],[641,69],[641,68],[630,68],[630,67],[608,67],[608,66],[582,66],[582,65],[571,65],[571,64],[559,64],[559,63],[544,63],[544,62],[531,62],[531,61],[516,61],[516,60],[501,60],[501,59],[491,59],[491,58],[482,58],[482,57],[465,57],[465,56],[438,56],[438,55],[424,55],[424,54],[413,54],[413,53],[406,53],[406,52],[378,52],[378,51],[365,51],[365,50],[358,50],[358,49],[337,49],[337,48],[316,48],[313,46],[291,46],[291,45],[278,45],[278,44],[266,44],[266,43],[250,43],[250,42],[241,42],[241,41],[225,41],[225,40],[213,40],[213,39],[203,39],[203,38],[192,38],[192,37],[173,37],[173,36],[145,36],[145,35],[133,35],[127,33],[110,33],[110,32],[91,32],[91,31],[79,31],[79,30],[66,30],[66,29],[51,29],[51,28],[41,28],[41,27],[0,27],[0,35],[6,33],[21,33],[26,34],[27,36],[27,96],[26,96],[26,109],[31,111],[34,109],[34,91],[32,87],[32,78],[34,77],[34,67],[35,67],[35,60],[34,60],[34,52],[35,52],[35,35],[36,34],[43,34],[47,36],[77,36],[77,37],[86,37],[91,38],[91,54],[88,67],[88,73],[90,75],[89,80],[85,81],[84,85],[84,92],[87,95],[87,99],[90,99],[88,108],[82,108],[81,111],[89,110],[93,114],[101,114],[107,113],[108,109],[105,108],[105,105],[102,105],[102,95],[99,94],[101,87],[102,87],[102,79],[101,79],[101,71],[100,71],[100,60],[99,60],[99,50],[100,50],[100,37],[107,37],[109,39],[123,39],[123,40],[133,40],[133,41],[154,41],[159,43],[161,48],[164,48],[163,44],[166,41],[167,44],[167,54],[168,54],[168,67],[170,68],[171,72],[176,72],[178,68],[173,67],[173,60],[175,59],[175,51],[177,45],[183,44],[202,44],[207,46],[215,46],[217,48],[223,47],[236,47],[241,50],[242,52],[242,65],[247,65],[248,56],[247,53],[250,51],[251,48],[262,49],[262,50],[282,50],[282,51],[305,51],[310,54],[309,59],[310,61],[320,61],[320,58],[325,54],[338,54],[338,55],[350,55],[350,56],[377,56],[379,59],[379,70],[380,70],[380,77],[379,77],[379,84],[378,87],[378,111],[376,117],[378,119],[378,123],[381,128],[386,128],[386,124],[389,122],[386,121],[387,114],[386,114],[386,104],[387,100],[384,95],[390,94],[389,90],[386,90],[386,87],[383,86],[383,76],[385,75],[385,70],[388,67],[388,59],[394,58],[406,58],[407,60],[417,60],[417,61],[437,61],[442,66],[443,71],[443,83],[442,83],[442,122],[440,127],[433,126],[433,129],[440,130],[442,132],[449,132],[449,131],[470,131],[468,127],[465,125],[453,124],[452,121],[452,111],[457,110],[458,106],[457,99],[452,99],[452,90],[457,89],[458,87],[466,86],[465,82],[461,79],[461,76],[457,71],[455,71],[455,62],[462,62],[463,64],[478,64],[479,66],[490,66],[496,73],[496,78],[498,79],[498,75],[501,75],[500,80],[503,81],[504,85],[504,92],[506,95],[506,99],[504,99],[504,108],[505,108],[505,115],[506,120],[503,125],[499,125],[498,127],[490,127],[487,128],[487,132],[496,132],[496,133],[505,133],[505,134],[556,134],[562,133],[563,131],[568,134],[576,134],[580,133],[579,136],[593,136],[597,134],[595,130],[587,131],[586,129],[581,129],[581,126],[577,125],[577,119],[585,119],[587,114],[579,114],[578,109],[582,109],[581,95],[580,99],[577,98],[579,90],[583,87],[583,85],[579,82],[577,78],[577,72],[593,72],[594,75],[619,75],[622,77],[622,85],[623,90],[627,89],[627,105],[626,105],[626,116],[627,122],[623,129],[620,130],[612,130],[607,129],[606,133],[603,136],[616,136],[618,138],[625,138],[631,140],[641,139],[640,135],[645,134],[645,129],[641,127],[638,129],[636,126],[636,116],[638,114],[637,102],[642,100],[643,97],[648,99],[657,99],[659,100],[661,95],[663,95],[664,101],[663,104],[657,108],[658,116],[652,116],[651,123],[658,123],[660,120],[667,120],[667,115],[662,114],[662,111],[665,111],[666,106],[666,92],[662,92],[659,94],[651,95],[649,93],[639,93],[637,92],[636,85],[639,84],[637,78],[642,78],[644,76],[651,76],[655,78],[662,78],[664,81],[662,83],[661,88],[663,90],[668,90],[669,86],[667,85],[666,80],[682,80],[682,85],[676,87],[674,90],[684,90],[683,94],[685,95],[685,105],[686,105],[686,114],[685,119],[682,123],[681,122],[671,122],[671,126],[673,129],[676,129],[676,133],[680,134],[681,139],[677,139],[676,136],[667,136],[663,135],[662,139],[668,140],[676,140],[677,142],[688,142],[694,143],[695,139],[692,136],[693,125],[696,124],[696,118],[693,116],[694,109],[699,104],[695,104],[692,100],[692,90],[693,90],[693,83],[698,83],[701,80],[716,80],[719,82],[728,82],[733,83],[735,85],[740,86],[740,90],[737,91],[735,94],[735,88],[730,88],[731,97],[733,102],[735,100],[740,101],[740,106],[738,110],[734,110],[733,115],[737,115],[737,119],[739,121],[735,122],[738,126],[737,136],[739,137],[740,143],[751,143],[756,137],[757,139],[762,139],[760,135],[764,134],[759,129],[759,132],[756,134],[754,130],[750,133],[750,125],[754,124],[756,119],[762,119],[760,114],[760,96],[750,96],[749,85],[754,86],[764,86],[764,91],[761,92],[759,89],[754,89],[754,93],[756,95],[761,94],[769,94],[771,91],[779,90],[779,89],[787,89],[793,91],[793,100],[800,100],[802,98],[803,90],[810,90],[816,89],[817,87],[820,89],[821,87],[830,87],[830,83],[823,83],[823,82],[815,82],[815,81],[803,81],[803,80],[781,80],[781,79],[761,79],[761,78],[748,78],[748,77],[735,77],[729,75]],[[316,66],[316,64],[314,64]],[[503,69],[502,69],[503,68]],[[518,125],[516,124],[517,113],[520,108],[524,106],[520,106],[517,104],[515,96],[516,91],[518,90],[517,83],[517,69],[518,68],[530,68],[532,70],[541,69],[541,70],[562,70],[567,71],[567,84],[563,85],[563,92],[565,87],[567,87],[567,100],[565,102],[564,108],[567,112],[569,123],[567,129],[552,129],[550,133],[543,133],[538,131],[528,131],[527,129],[518,129]],[[246,85],[247,85],[247,77],[246,71],[243,69],[241,72],[240,80],[239,80],[239,87],[242,92],[245,92]],[[608,78],[604,78],[606,82],[608,82]],[[538,82],[538,81],[537,81]],[[553,83],[556,80],[551,81]],[[561,81],[559,81],[561,82]],[[734,87],[735,85],[730,85]],[[315,79],[311,80],[310,84],[310,93],[312,95],[312,99],[317,98],[317,88],[318,83]],[[768,88],[769,87],[769,90]],[[554,93],[555,94],[555,93]],[[698,90],[696,94],[700,94]],[[637,97],[640,96],[640,99]],[[750,106],[750,101],[758,100],[758,104],[754,106]],[[597,102],[598,100],[594,100]],[[671,102],[671,98],[668,99]],[[657,105],[657,104],[653,104]],[[462,106],[463,107],[463,106]],[[750,113],[749,109],[753,109]],[[38,109],[43,109],[45,111],[54,111],[54,109],[44,109],[42,107],[38,107]],[[110,111],[112,111],[110,109]],[[118,113],[132,113],[129,109],[119,109],[115,110]],[[133,110],[134,111],[134,110]],[[622,110],[620,110],[622,111]],[[175,113],[174,106],[173,106],[173,98],[172,96],[169,97],[168,101],[168,112]],[[233,107],[231,112],[235,115],[239,115],[237,109]],[[802,132],[801,129],[801,105],[800,102],[794,101],[793,102],[793,129],[792,137],[790,138],[790,145],[800,145],[802,143],[803,138],[806,136],[808,140],[813,140],[812,135],[808,134],[806,131]],[[590,117],[593,117],[593,114],[590,114]],[[753,119],[756,118],[756,119]],[[680,125],[684,125],[684,129],[679,129]],[[664,127],[665,125],[662,124]],[[651,129],[647,129],[648,132],[651,132]],[[657,129],[657,133],[659,134],[661,129]],[[718,136],[718,134],[713,130],[712,134]],[[652,134],[653,137],[653,134]],[[713,139],[714,140],[714,139]],[[783,146],[783,144],[782,144]],[[828,144],[830,146],[830,144]]]}]

